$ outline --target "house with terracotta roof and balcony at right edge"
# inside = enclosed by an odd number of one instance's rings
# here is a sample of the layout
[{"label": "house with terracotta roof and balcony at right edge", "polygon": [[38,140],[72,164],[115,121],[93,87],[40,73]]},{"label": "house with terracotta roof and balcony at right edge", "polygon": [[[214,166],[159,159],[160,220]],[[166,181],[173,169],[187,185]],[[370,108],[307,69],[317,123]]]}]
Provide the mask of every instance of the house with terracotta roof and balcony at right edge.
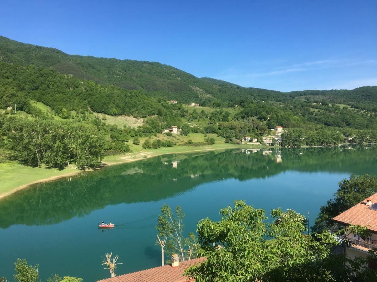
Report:
[{"label": "house with terracotta roof and balcony at right edge", "polygon": [[[368,250],[377,249],[377,193],[337,215],[333,221],[344,228],[350,224],[366,226],[372,233],[369,238],[361,238],[354,233],[339,235],[349,243],[345,248],[349,258],[366,257]],[[370,261],[369,268],[377,270],[377,261]]]}]

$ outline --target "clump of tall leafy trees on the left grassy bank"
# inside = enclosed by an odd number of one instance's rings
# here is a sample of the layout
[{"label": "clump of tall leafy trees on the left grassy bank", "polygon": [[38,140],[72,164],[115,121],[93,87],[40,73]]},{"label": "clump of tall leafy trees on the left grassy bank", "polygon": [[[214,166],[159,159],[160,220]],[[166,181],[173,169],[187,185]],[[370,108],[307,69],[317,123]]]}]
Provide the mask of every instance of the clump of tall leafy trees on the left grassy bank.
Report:
[{"label": "clump of tall leafy trees on the left grassy bank", "polygon": [[104,155],[104,133],[91,124],[6,118],[0,137],[10,157],[32,166],[64,168],[75,162],[80,169],[98,167]]}]

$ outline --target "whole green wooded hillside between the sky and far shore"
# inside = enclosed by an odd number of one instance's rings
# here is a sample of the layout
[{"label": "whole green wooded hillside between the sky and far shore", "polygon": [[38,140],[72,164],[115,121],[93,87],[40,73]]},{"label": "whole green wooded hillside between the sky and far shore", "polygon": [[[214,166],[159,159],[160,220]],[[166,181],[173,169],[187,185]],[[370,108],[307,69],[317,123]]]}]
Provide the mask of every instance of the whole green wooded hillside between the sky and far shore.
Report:
[{"label": "whole green wooded hillside between the sky and far shore", "polygon": [[[208,107],[184,105],[190,102]],[[144,122],[118,127],[93,112]],[[264,144],[263,136],[274,135],[275,126],[285,131],[272,146],[374,143],[377,86],[287,93],[244,88],[156,62],[67,55],[0,36],[0,161],[98,167],[106,155],[129,152],[131,138],[143,149],[179,145],[173,138],[137,141],[159,138],[171,126],[186,136],[214,133],[236,144],[245,136]],[[209,137],[203,143],[189,141],[184,145],[215,143]]]}]

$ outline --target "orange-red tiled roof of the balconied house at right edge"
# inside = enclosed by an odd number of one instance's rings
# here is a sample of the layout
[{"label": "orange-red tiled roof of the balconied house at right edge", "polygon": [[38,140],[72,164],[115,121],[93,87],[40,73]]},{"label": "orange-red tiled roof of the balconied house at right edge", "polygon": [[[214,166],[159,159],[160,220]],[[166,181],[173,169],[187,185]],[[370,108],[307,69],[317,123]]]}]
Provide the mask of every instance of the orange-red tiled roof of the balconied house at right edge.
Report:
[{"label": "orange-red tiled roof of the balconied house at right edge", "polygon": [[[377,203],[377,193],[368,197],[371,199],[372,204]],[[368,209],[369,206],[366,205],[366,199],[361,203],[354,205],[352,208],[347,209],[340,215],[333,218],[334,221],[340,224],[354,224],[368,226],[368,229],[374,233],[377,233],[377,211],[373,209]]]}]

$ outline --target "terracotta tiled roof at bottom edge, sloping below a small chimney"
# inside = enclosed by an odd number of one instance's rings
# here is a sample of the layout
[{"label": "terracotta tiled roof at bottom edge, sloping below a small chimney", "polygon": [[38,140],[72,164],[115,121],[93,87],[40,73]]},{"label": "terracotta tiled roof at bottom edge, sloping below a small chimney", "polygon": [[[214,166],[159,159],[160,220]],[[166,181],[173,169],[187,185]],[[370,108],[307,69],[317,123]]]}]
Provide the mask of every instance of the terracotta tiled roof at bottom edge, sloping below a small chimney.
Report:
[{"label": "terracotta tiled roof at bottom edge, sloping below a small chimney", "polygon": [[97,282],[186,282],[186,277],[183,276],[185,269],[196,263],[204,261],[204,259],[205,258],[190,259],[188,261],[179,262],[179,265],[176,267],[164,265],[119,275],[114,278],[99,280]]}]

